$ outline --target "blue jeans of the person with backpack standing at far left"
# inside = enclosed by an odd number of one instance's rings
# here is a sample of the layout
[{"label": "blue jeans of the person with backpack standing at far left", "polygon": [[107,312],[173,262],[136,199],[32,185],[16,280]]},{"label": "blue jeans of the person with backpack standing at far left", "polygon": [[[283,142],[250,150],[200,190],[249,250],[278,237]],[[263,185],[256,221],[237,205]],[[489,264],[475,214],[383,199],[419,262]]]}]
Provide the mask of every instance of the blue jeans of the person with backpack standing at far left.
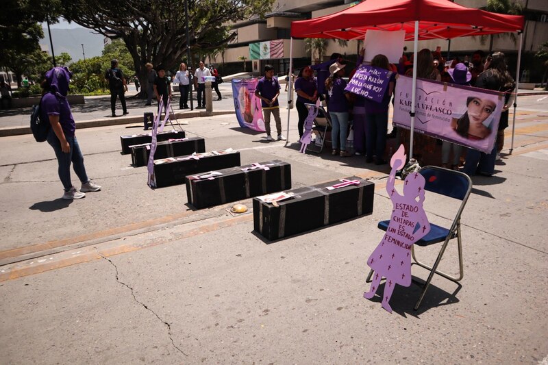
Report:
[{"label": "blue jeans of the person with backpack standing at far left", "polygon": [[82,151],[80,151],[76,136],[65,136],[65,138],[66,142],[69,142],[69,145],[71,146],[71,151],[69,151],[69,153],[64,153],[61,149],[61,142],[59,141],[59,138],[55,136],[53,128],[49,130],[47,142],[53,147],[55,157],[57,157],[57,162],[59,164],[59,179],[61,179],[64,190],[69,191],[73,187],[73,183],[71,182],[71,163],[73,164],[74,172],[82,184],[90,181],[90,179],[88,179],[88,174],[86,174],[84,156],[82,155]]}]

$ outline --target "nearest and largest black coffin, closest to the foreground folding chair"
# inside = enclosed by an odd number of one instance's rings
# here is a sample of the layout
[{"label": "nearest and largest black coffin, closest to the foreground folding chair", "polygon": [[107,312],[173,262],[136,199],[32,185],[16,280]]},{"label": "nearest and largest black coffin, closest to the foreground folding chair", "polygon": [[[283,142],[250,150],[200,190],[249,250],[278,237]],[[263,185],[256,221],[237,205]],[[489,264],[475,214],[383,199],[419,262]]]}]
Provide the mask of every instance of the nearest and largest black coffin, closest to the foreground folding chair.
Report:
[{"label": "nearest and largest black coffin, closest to the foreground folding chair", "polygon": [[253,198],[253,228],[267,240],[277,240],[373,213],[375,184],[355,176],[345,179],[360,185],[327,190],[341,184],[335,180],[287,190],[295,196],[278,201],[278,206]]}]

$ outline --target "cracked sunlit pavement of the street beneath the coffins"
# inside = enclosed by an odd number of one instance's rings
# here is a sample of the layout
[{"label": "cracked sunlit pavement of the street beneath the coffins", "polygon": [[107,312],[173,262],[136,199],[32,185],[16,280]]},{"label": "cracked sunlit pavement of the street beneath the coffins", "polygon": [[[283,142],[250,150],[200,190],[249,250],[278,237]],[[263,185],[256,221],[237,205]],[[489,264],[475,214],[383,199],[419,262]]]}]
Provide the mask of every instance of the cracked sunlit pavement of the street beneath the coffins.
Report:
[{"label": "cracked sunlit pavement of the street beneath the coffins", "polygon": [[[508,136],[496,175],[473,178],[462,286],[435,277],[418,311],[419,286],[398,286],[393,314],[379,297],[362,298],[365,260],[382,238],[377,221],[392,209],[387,166],[303,155],[297,144],[240,129],[233,115],[192,118],[188,136],[206,138],[207,150],[238,149],[242,164],[290,162],[293,187],[351,175],[375,183],[371,216],[268,244],[251,212],[192,210],[184,186],[148,188],[146,168],[120,154],[119,136],[139,125],[77,131],[103,190],[71,202],[60,199],[51,147],[1,138],[1,362],[546,362],[548,108],[527,98],[512,155]],[[454,207],[427,195],[433,223],[449,225]],[[434,260],[432,249],[417,251]],[[446,255],[443,269],[454,273],[454,245]],[[413,275],[427,277],[415,267]]]}]

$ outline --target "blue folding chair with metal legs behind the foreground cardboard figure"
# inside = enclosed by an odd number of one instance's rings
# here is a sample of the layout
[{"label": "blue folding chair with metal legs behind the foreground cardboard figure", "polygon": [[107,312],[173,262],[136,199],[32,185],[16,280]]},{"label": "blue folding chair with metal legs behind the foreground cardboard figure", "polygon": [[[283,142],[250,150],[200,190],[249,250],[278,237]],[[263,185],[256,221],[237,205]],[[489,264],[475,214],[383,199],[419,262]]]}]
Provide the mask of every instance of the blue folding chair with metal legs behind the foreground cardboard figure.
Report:
[{"label": "blue folding chair with metal legs behind the foreground cardboard figure", "polygon": [[[423,291],[421,292],[421,297],[419,298],[419,301],[416,302],[414,310],[419,309],[419,305],[421,305],[421,302],[423,301],[426,290],[428,289],[430,282],[432,281],[432,277],[434,277],[434,273],[454,282],[460,281],[464,276],[464,265],[462,262],[462,236],[460,234],[460,216],[462,214],[462,211],[464,210],[464,206],[466,205],[466,201],[468,201],[468,197],[470,196],[470,192],[472,190],[472,181],[470,177],[458,171],[453,171],[447,168],[441,168],[436,166],[425,166],[421,168],[419,173],[425,178],[425,190],[444,195],[445,197],[458,199],[461,201],[461,203],[458,211],[456,212],[455,218],[453,219],[451,227],[445,228],[430,223],[429,233],[421,240],[414,242],[414,244],[412,244],[411,246],[411,255],[414,261],[412,262],[412,264],[419,265],[430,271]],[[386,231],[386,229],[388,229],[388,223],[390,223],[390,221],[379,222],[379,229]],[[443,257],[443,253],[445,253],[447,244],[449,244],[449,241],[453,238],[457,239],[458,244],[458,277],[453,277],[447,273],[443,273],[442,271],[438,270],[438,265],[440,264],[440,261]],[[434,265],[428,266],[427,264],[420,262],[416,259],[414,252],[415,246],[424,247],[440,242],[443,242],[443,244],[440,247],[440,251],[438,253],[438,257],[436,258],[436,262],[434,262]],[[367,282],[371,281],[371,275],[373,275],[373,270],[369,272],[369,275],[366,279]]]}]

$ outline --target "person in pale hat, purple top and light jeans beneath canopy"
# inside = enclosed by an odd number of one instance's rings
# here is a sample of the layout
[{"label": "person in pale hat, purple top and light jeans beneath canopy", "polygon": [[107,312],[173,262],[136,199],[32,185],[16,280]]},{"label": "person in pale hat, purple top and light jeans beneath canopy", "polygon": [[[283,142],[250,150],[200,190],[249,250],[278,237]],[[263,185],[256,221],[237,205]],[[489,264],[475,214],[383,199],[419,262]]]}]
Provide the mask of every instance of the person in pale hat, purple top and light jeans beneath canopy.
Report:
[{"label": "person in pale hat, purple top and light jeans beneath canopy", "polygon": [[[332,155],[339,154],[340,157],[351,155],[346,148],[348,134],[348,109],[349,92],[345,90],[347,82],[343,79],[345,75],[345,64],[335,62],[329,66],[329,77],[325,80],[325,91],[327,92],[327,110],[332,121],[331,140]],[[340,142],[340,152],[339,152]]]}]

